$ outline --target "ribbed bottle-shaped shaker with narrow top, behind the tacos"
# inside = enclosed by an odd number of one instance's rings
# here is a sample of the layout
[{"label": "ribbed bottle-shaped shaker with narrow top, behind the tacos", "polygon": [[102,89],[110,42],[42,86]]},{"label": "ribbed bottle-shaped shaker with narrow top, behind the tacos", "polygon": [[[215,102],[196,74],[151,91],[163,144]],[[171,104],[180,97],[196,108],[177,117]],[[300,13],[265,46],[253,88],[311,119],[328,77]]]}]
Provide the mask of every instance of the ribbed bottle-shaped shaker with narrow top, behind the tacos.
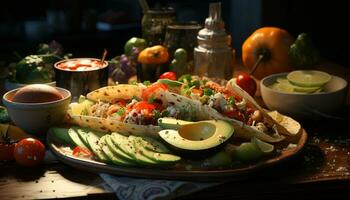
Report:
[{"label": "ribbed bottle-shaped shaker with narrow top, behind the tacos", "polygon": [[205,28],[197,35],[194,48],[194,74],[230,79],[233,73],[233,54],[230,37],[221,19],[221,3],[211,3]]}]

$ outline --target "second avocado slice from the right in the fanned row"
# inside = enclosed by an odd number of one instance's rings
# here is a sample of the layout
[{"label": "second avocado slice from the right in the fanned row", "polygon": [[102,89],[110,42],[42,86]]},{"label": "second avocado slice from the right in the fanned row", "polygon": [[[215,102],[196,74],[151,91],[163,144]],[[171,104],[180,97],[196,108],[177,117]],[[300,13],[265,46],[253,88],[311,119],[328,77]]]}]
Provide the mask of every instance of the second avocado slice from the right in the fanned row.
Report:
[{"label": "second avocado slice from the right in the fanned row", "polygon": [[118,144],[118,147],[127,155],[132,157],[137,163],[141,165],[154,165],[155,161],[145,157],[135,149],[134,141],[127,137],[118,137],[118,133],[112,134],[112,141]]}]

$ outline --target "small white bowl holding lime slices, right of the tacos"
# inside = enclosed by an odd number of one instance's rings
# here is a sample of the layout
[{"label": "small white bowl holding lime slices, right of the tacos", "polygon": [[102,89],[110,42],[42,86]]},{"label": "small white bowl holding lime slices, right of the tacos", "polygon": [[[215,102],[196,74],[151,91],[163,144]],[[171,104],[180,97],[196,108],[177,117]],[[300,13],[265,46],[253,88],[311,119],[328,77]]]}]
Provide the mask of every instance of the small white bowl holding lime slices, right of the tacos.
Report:
[{"label": "small white bowl holding lime slices, right of the tacos", "polygon": [[260,82],[267,108],[296,119],[334,115],[344,105],[347,86],[343,78],[316,70],[273,74]]}]

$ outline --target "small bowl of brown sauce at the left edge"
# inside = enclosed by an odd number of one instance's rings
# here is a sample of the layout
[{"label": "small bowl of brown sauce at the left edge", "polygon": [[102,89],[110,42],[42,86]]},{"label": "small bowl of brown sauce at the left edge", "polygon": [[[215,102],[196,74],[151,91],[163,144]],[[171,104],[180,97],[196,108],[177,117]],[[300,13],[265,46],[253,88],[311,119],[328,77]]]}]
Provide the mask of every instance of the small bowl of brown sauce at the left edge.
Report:
[{"label": "small bowl of brown sauce at the left edge", "polygon": [[60,87],[31,84],[5,93],[2,100],[19,128],[44,139],[51,126],[63,121],[71,93]]}]

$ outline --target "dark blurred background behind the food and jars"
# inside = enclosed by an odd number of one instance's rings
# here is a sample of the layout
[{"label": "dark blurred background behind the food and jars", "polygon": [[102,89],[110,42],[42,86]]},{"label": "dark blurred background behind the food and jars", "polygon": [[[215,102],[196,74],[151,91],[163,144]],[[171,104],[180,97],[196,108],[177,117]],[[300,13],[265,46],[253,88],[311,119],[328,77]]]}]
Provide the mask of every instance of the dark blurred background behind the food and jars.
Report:
[{"label": "dark blurred background behind the food and jars", "polygon": [[[178,21],[199,23],[207,17],[210,2],[213,1],[148,0],[151,7],[174,7]],[[350,17],[345,1],[221,2],[223,19],[238,56],[244,39],[255,29],[278,26],[295,37],[308,32],[323,58],[350,67],[347,59]],[[7,1],[0,7],[0,64],[18,60],[14,52],[25,56],[40,42],[51,40],[61,43],[73,57],[100,57],[107,48],[107,57],[111,58],[122,53],[130,37],[141,36],[141,17],[138,0]]]}]

